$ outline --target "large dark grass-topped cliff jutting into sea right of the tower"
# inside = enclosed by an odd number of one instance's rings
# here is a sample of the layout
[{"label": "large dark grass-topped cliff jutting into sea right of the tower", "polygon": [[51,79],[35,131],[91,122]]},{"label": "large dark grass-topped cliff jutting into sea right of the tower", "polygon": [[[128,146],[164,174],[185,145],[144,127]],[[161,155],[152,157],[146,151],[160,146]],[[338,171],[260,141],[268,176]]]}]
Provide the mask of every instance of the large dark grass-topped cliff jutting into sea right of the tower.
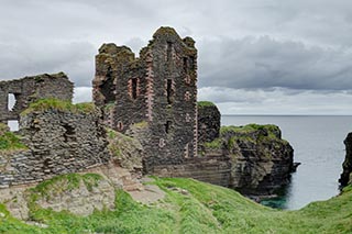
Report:
[{"label": "large dark grass-topped cliff jutting into sea right of the tower", "polygon": [[273,194],[289,182],[294,149],[275,125],[222,126],[220,137],[204,144],[205,155],[216,148],[231,158],[229,187],[243,194]]}]

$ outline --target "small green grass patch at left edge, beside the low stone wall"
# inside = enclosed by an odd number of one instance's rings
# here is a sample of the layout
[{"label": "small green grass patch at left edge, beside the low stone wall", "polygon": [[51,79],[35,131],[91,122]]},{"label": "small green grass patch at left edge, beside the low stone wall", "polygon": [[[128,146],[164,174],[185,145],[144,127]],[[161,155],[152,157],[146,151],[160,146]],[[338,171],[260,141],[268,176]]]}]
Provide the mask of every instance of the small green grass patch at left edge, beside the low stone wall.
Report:
[{"label": "small green grass patch at left edge, beside the low stone wall", "polygon": [[26,149],[28,147],[21,142],[21,137],[9,131],[9,127],[0,123],[0,152]]}]

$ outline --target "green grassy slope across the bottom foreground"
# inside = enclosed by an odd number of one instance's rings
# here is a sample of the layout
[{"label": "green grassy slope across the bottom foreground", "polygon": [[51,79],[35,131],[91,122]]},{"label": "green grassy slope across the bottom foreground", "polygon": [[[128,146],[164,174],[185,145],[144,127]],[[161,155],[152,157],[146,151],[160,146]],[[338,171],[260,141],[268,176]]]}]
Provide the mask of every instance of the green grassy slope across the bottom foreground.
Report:
[{"label": "green grassy slope across the bottom foreground", "polygon": [[166,197],[152,205],[139,204],[118,190],[116,210],[86,218],[35,209],[31,218],[47,227],[15,220],[0,205],[0,233],[352,233],[351,187],[299,211],[277,211],[233,190],[191,179],[155,179],[154,183]]}]

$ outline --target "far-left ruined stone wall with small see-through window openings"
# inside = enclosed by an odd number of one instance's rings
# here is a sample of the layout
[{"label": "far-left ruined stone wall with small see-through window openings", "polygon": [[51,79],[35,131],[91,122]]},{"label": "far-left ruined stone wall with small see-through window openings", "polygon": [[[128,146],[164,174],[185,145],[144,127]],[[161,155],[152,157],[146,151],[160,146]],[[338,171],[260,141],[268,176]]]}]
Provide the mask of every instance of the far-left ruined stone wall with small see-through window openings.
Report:
[{"label": "far-left ruined stone wall with small see-through window openings", "polygon": [[[20,113],[38,99],[56,98],[70,101],[73,92],[74,85],[64,73],[0,81],[0,122],[19,120]],[[11,93],[15,98],[15,103],[12,110],[9,110]]]}]

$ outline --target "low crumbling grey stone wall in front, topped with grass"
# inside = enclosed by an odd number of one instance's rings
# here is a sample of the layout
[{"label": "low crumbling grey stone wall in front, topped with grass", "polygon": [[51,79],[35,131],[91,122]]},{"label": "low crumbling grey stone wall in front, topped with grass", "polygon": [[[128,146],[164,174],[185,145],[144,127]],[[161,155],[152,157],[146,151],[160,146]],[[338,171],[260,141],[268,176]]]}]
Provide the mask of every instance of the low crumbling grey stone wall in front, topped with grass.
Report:
[{"label": "low crumbling grey stone wall in front, topped with grass", "polygon": [[29,149],[0,152],[0,187],[37,182],[77,172],[110,159],[100,112],[44,110],[20,120]]}]

